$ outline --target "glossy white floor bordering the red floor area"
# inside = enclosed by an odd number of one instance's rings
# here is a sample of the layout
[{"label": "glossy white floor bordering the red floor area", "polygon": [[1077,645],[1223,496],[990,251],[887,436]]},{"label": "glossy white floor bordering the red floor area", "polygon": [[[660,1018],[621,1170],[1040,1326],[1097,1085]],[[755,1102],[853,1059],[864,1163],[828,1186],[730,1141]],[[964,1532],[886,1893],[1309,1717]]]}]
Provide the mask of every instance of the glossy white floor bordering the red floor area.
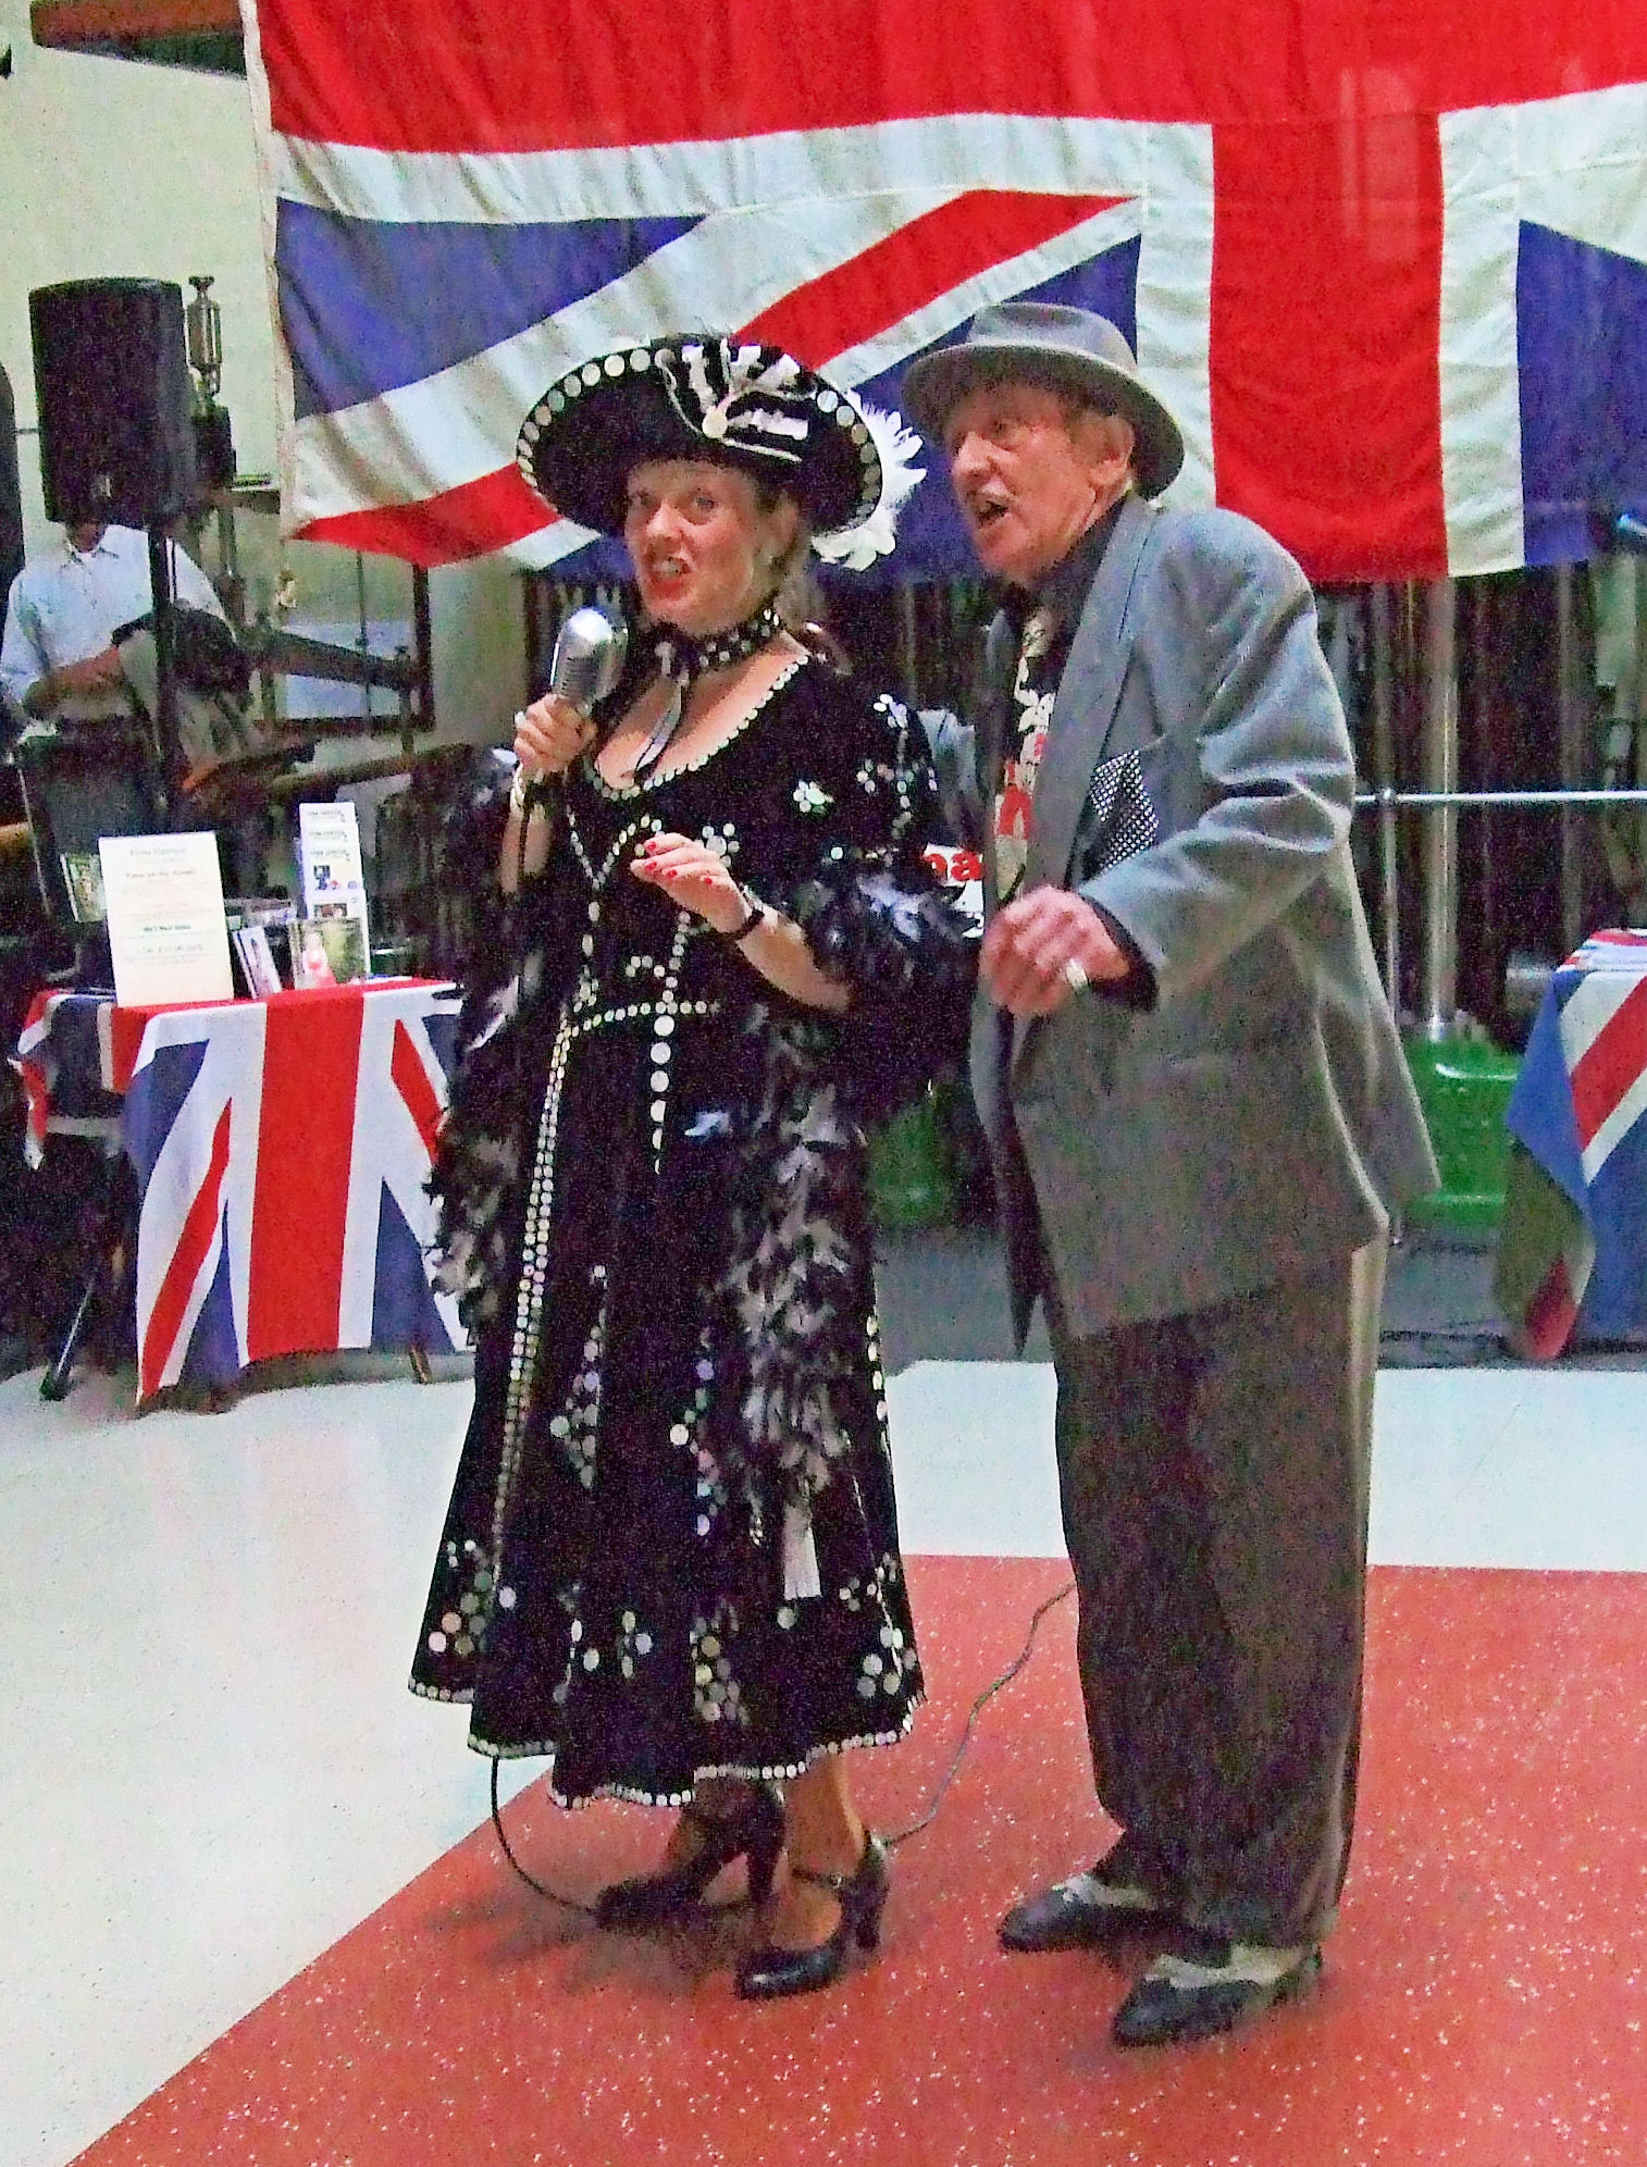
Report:
[{"label": "glossy white floor bordering the red floor area", "polygon": [[[111,1378],[37,1387],[0,1385],[0,2167],[69,2160],[488,1781],[464,1712],[405,1692],[466,1385],[143,1419]],[[891,1404],[906,1549],[1060,1552],[1049,1370],[921,1363]],[[1647,1571],[1643,1469],[1647,1372],[1385,1372],[1374,1558]]]}]

